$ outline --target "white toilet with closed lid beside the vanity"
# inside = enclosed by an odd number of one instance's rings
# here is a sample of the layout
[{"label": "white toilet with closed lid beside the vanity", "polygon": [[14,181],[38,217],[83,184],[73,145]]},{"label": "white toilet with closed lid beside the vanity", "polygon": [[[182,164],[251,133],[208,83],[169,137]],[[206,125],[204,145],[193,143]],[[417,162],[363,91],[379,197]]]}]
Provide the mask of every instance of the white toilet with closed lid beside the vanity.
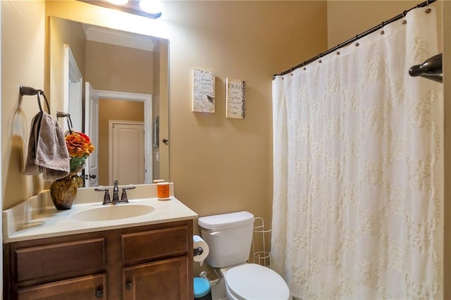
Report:
[{"label": "white toilet with closed lid beside the vanity", "polygon": [[209,245],[206,261],[219,268],[229,300],[289,300],[290,289],[270,268],[247,263],[254,215],[247,211],[199,218],[202,239]]}]

